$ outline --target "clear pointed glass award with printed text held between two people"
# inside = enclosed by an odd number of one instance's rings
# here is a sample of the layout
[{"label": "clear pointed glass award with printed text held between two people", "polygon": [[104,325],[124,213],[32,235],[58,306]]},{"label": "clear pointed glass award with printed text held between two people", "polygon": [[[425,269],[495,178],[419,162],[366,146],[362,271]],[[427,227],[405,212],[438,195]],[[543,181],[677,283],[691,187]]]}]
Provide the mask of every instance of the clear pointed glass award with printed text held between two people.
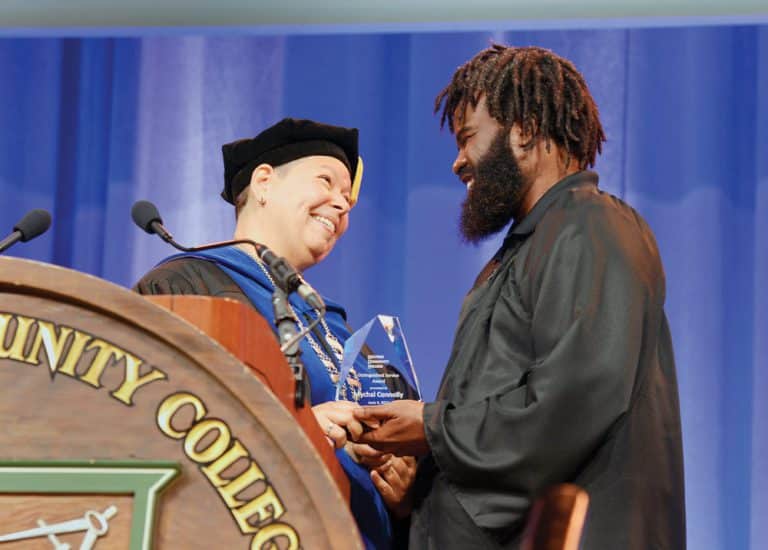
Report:
[{"label": "clear pointed glass award with printed text held between two people", "polygon": [[361,353],[368,367],[365,372],[355,369],[362,384],[361,403],[380,405],[396,399],[421,400],[419,379],[400,319],[392,315],[376,315],[344,343],[336,399],[339,399],[342,384]]}]

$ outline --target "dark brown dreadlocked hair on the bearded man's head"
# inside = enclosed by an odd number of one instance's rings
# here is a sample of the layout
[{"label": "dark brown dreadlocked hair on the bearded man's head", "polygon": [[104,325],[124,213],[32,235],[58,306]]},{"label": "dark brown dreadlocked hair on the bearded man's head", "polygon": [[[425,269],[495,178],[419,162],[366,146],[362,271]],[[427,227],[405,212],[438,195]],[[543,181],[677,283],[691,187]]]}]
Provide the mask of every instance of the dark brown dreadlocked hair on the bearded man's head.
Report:
[{"label": "dark brown dreadlocked hair on the bearded man's head", "polygon": [[504,127],[519,124],[530,143],[543,138],[584,169],[594,166],[605,133],[597,105],[573,63],[549,50],[493,44],[456,69],[435,99],[440,126],[454,133],[454,115],[485,98],[488,113]]}]

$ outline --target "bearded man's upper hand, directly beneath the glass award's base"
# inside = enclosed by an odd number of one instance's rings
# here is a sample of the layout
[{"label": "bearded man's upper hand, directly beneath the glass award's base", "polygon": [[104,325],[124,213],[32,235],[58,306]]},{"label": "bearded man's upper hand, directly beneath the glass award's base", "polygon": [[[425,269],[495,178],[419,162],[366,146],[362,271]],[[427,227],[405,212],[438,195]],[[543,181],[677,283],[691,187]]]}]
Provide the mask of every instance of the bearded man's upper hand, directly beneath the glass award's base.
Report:
[{"label": "bearded man's upper hand, directly beneath the glass award's base", "polygon": [[356,409],[355,418],[372,429],[355,440],[398,456],[426,455],[429,445],[424,434],[423,411],[424,403],[408,399]]}]

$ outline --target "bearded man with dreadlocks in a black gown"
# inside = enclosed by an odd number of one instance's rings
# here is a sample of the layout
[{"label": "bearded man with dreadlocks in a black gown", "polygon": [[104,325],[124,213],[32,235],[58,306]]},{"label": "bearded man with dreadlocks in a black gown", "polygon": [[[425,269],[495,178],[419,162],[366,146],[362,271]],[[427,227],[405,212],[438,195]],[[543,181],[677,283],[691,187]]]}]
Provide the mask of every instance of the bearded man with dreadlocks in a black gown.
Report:
[{"label": "bearded man with dreadlocks in a black gown", "polygon": [[514,220],[465,299],[433,403],[366,407],[362,440],[420,455],[411,547],[517,548],[545,488],[585,488],[583,548],[685,548],[664,273],[640,216],[587,168],[605,140],[567,60],[500,45],[438,95],[477,242]]}]

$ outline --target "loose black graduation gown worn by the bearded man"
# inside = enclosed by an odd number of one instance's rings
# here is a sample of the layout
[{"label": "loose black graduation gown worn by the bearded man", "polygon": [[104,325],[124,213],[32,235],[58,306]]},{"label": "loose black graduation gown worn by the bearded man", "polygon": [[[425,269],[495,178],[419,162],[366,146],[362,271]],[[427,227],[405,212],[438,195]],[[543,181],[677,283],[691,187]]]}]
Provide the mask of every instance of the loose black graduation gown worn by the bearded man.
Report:
[{"label": "loose black graduation gown worn by the bearded man", "polygon": [[582,548],[685,548],[664,274],[640,216],[580,172],[511,228],[467,296],[424,408],[411,548],[517,548],[532,501],[572,482]]}]

